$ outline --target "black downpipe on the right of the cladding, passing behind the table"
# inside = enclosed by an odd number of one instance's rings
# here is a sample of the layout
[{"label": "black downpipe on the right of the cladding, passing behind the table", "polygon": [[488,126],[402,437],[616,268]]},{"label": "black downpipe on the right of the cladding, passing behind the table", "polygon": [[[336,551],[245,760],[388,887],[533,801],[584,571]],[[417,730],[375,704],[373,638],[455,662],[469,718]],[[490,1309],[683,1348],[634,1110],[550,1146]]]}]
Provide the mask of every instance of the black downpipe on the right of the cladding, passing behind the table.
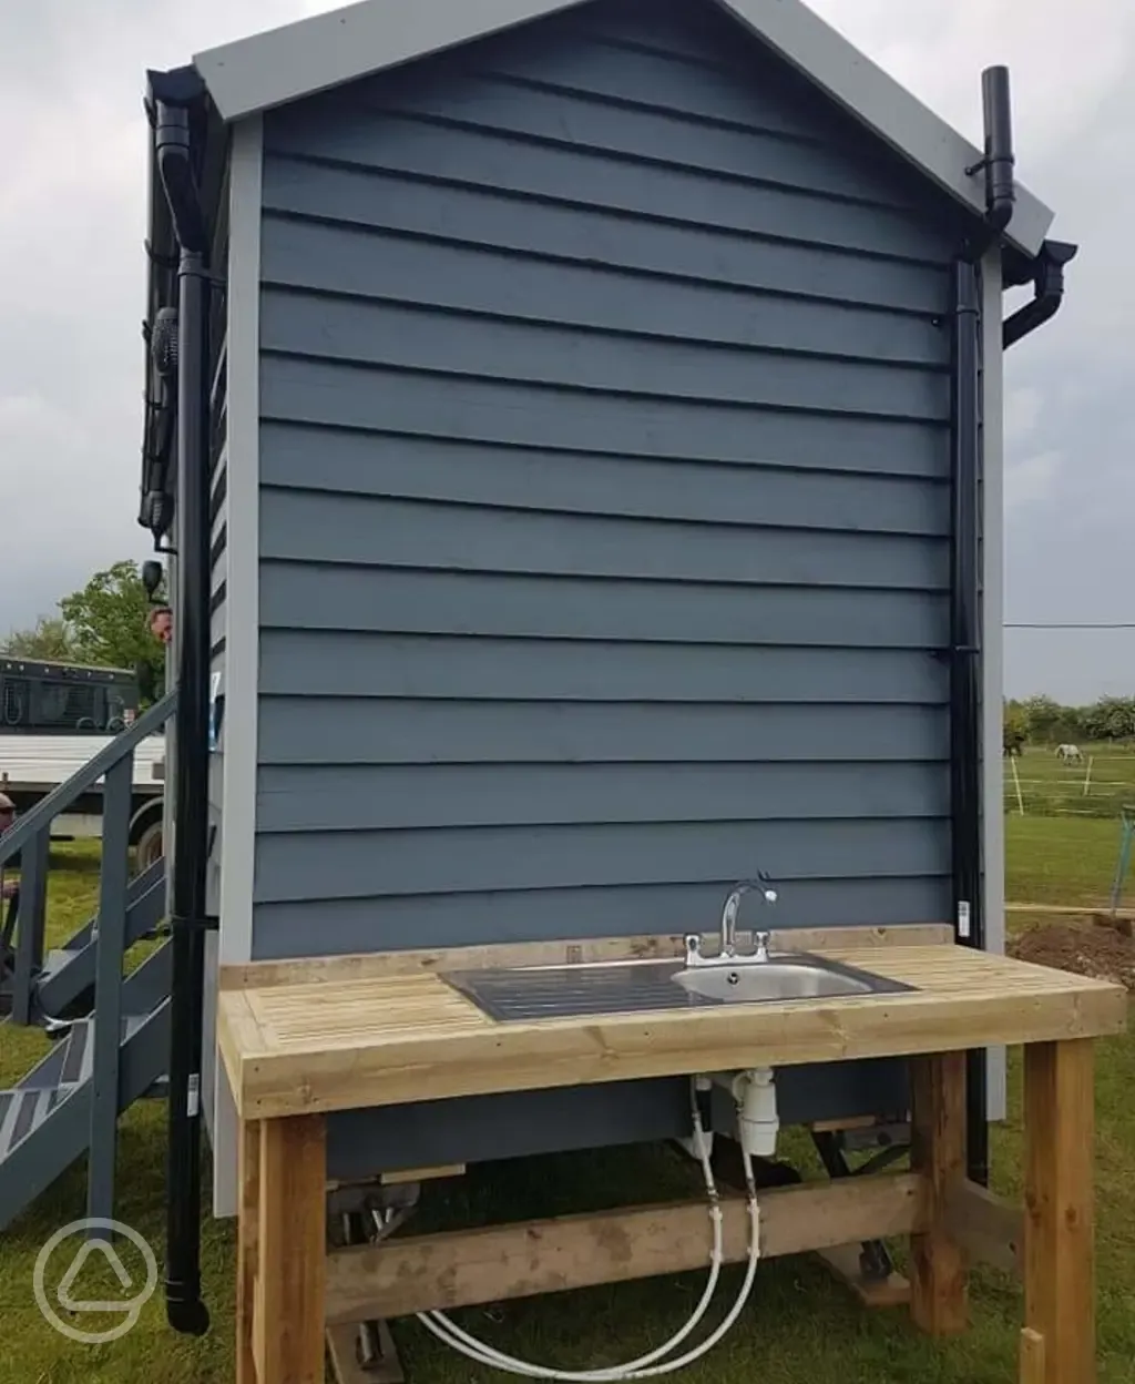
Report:
[{"label": "black downpipe on the right of the cladding, passing behind the table", "polygon": [[[950,602],[950,801],[954,927],[964,947],[983,948],[982,716],[977,480],[980,458],[979,271],[954,264],[954,457]],[[994,804],[997,807],[1000,804]],[[988,1183],[986,1052],[966,1053],[968,1174]]]}]

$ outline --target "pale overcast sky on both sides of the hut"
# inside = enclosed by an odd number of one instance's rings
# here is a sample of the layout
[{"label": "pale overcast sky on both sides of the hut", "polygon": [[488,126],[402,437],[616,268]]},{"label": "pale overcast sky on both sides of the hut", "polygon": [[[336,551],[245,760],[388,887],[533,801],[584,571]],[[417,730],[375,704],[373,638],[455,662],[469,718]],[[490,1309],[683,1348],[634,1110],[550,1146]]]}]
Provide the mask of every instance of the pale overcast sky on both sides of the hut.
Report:
[{"label": "pale overcast sky on both sides of the hut", "polygon": [[[975,141],[980,71],[1011,66],[1019,176],[1081,251],[1058,318],[1006,357],[1006,617],[1135,619],[1135,6],[813,6]],[[0,634],[95,567],[148,555],[134,523],[145,68],[330,8],[0,0]],[[1135,631],[1011,630],[1006,663],[1011,695],[1131,693]]]}]

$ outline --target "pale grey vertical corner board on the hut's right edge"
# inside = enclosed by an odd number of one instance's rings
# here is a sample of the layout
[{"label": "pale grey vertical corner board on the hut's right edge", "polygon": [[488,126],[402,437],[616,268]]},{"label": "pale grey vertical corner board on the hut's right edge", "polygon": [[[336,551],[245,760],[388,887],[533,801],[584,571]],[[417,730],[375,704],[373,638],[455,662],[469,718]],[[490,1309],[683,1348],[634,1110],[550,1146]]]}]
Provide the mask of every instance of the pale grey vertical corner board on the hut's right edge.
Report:
[{"label": "pale grey vertical corner board on the hut's right edge", "polygon": [[[982,260],[982,908],[986,951],[1005,951],[1005,765],[1001,698],[1005,684],[1005,389],[1001,345],[1001,255]],[[1004,1120],[1005,1049],[988,1050],[987,1109]]]}]

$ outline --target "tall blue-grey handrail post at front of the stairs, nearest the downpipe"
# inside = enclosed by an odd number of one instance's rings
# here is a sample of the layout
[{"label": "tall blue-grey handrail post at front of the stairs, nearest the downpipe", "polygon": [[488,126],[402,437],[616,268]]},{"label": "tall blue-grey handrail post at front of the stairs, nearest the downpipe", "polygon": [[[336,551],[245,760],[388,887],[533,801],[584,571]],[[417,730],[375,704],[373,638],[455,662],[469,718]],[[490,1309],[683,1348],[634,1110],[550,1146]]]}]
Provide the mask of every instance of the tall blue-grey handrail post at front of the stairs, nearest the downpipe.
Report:
[{"label": "tall blue-grey handrail post at front of the stairs, nearest the downpipe", "polygon": [[[130,807],[134,754],[113,764],[102,786],[102,865],[98,880],[98,951],[94,973],[94,1063],[90,1106],[87,1215],[115,1214],[122,965],[126,951],[126,891],[130,883]],[[109,1239],[95,1232],[93,1239]]]}]

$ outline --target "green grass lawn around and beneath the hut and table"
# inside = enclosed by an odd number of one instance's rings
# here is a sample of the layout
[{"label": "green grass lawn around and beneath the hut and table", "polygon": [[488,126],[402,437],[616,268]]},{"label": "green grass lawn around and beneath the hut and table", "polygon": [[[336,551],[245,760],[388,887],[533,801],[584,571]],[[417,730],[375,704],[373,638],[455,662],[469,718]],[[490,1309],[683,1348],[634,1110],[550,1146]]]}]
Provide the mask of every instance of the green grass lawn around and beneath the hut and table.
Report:
[{"label": "green grass lawn around and beneath the hut and table", "polygon": [[[1095,904],[1106,898],[1118,832],[1091,818],[1011,818],[1008,895],[1030,902]],[[64,864],[61,861],[61,864]],[[51,923],[58,937],[90,912],[97,871],[88,851],[68,853],[53,873]],[[43,1048],[37,1034],[0,1030],[0,1080],[19,1075]],[[1098,1283],[1100,1384],[1135,1380],[1135,1035],[1098,1045]],[[1019,1063],[1011,1056],[1011,1111],[994,1131],[994,1185],[1019,1192]],[[162,1241],[165,1109],[142,1104],[122,1121],[119,1207],[122,1219],[155,1246]],[[796,1132],[784,1156],[812,1165]],[[458,1183],[438,1217],[465,1221],[547,1215],[680,1194],[690,1171],[665,1150],[529,1160],[480,1169]],[[4,1345],[0,1384],[231,1384],[232,1226],[205,1229],[206,1300],[214,1330],[188,1341],[165,1327],[160,1291],[138,1326],[105,1345],[79,1345],[55,1334],[32,1295],[40,1246],[83,1215],[83,1168],[76,1167],[0,1240]],[[433,1219],[433,1215],[431,1215]],[[131,1272],[134,1264],[129,1261]],[[160,1262],[160,1255],[159,1255]],[[726,1290],[740,1282],[731,1271]],[[505,1349],[568,1369],[600,1367],[641,1354],[684,1320],[701,1276],[651,1279],[509,1305],[489,1319],[473,1309],[460,1320]],[[76,1294],[91,1295],[84,1279]],[[867,1312],[807,1258],[762,1265],[753,1300],[724,1341],[687,1372],[704,1384],[1006,1384],[1016,1378],[1020,1293],[1006,1277],[973,1276],[973,1327],[958,1341],[918,1336],[904,1311]],[[716,1318],[715,1318],[716,1320]],[[93,1324],[93,1323],[80,1323]],[[469,1384],[482,1372],[448,1354],[416,1324],[395,1334],[413,1384]],[[503,1377],[503,1376],[500,1376]],[[1069,1381],[1074,1384],[1074,1381]]]}]

